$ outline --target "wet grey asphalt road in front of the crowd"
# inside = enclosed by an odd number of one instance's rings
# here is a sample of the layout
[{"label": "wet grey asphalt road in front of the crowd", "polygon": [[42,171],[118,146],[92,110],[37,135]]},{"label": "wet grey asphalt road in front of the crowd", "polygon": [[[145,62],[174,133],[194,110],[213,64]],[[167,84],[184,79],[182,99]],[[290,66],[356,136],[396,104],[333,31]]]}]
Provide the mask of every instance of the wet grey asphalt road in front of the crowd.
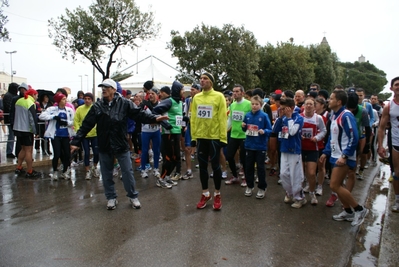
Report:
[{"label": "wet grey asphalt road in front of the crowd", "polygon": [[[360,203],[376,172],[356,181]],[[346,266],[358,231],[331,219],[341,207],[325,206],[327,183],[319,204],[301,209],[283,202],[276,177],[267,177],[262,200],[256,190],[245,197],[245,188],[223,183],[223,208],[215,212],[212,204],[196,209],[197,169],[172,189],[135,171],[142,208],[130,206],[116,179],[119,205],[109,211],[101,180],[84,175],[82,166],[71,181],[0,174],[0,266]]]}]

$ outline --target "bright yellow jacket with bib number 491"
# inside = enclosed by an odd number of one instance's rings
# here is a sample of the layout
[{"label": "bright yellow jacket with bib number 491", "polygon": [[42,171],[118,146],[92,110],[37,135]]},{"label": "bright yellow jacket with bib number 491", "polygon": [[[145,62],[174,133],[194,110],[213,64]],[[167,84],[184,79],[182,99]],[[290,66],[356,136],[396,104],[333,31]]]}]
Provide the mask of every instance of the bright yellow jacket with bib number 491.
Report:
[{"label": "bright yellow jacket with bib number 491", "polygon": [[224,95],[213,88],[194,96],[191,104],[191,138],[227,144],[227,108]]}]

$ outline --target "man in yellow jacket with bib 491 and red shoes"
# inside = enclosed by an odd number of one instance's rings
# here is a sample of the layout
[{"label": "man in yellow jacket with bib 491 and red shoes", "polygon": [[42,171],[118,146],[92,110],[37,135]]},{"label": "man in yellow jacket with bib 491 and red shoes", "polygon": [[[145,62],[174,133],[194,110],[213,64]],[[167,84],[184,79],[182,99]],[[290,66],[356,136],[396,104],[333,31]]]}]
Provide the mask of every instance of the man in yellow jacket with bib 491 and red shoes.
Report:
[{"label": "man in yellow jacket with bib 491 and red shoes", "polygon": [[227,145],[226,99],[213,89],[215,78],[209,72],[201,75],[202,92],[195,95],[191,104],[191,147],[197,147],[202,186],[198,209],[203,209],[212,196],[209,192],[208,160],[210,159],[215,185],[213,209],[220,210],[222,170],[219,163],[220,149]]}]

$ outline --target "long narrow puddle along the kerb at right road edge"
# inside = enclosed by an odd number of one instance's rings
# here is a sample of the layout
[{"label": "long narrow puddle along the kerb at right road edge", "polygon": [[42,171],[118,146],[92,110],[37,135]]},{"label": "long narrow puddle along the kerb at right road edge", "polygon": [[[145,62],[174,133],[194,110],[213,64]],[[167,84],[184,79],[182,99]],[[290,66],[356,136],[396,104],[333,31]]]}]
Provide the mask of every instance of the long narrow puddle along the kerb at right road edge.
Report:
[{"label": "long narrow puddle along the kerb at right road edge", "polygon": [[371,207],[370,215],[357,235],[356,253],[352,256],[349,266],[377,266],[389,190],[389,176],[389,166],[382,165],[370,189],[368,198],[368,206]]}]

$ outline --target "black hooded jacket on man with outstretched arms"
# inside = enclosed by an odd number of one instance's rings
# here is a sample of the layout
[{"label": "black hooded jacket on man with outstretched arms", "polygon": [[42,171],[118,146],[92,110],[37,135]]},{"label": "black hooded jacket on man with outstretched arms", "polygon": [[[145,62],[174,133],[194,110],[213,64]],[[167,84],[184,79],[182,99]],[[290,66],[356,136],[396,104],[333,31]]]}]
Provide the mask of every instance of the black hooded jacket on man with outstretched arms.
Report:
[{"label": "black hooded jacket on man with outstretched arms", "polygon": [[101,153],[120,154],[129,151],[127,143],[127,120],[131,118],[140,123],[157,123],[156,115],[147,114],[119,93],[115,93],[111,102],[102,99],[93,104],[82,126],[71,141],[71,145],[79,143],[97,124],[98,148]]}]

